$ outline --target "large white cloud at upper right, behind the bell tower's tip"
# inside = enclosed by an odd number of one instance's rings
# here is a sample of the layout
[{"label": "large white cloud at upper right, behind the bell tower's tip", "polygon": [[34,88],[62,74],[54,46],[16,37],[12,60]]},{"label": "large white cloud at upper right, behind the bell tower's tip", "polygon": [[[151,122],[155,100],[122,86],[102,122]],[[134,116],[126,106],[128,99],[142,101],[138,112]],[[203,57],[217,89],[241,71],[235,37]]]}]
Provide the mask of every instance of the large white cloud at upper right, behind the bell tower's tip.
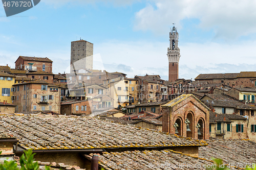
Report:
[{"label": "large white cloud at upper right, behind the bell tower's tip", "polygon": [[180,29],[182,19],[197,18],[201,29],[214,29],[216,37],[224,39],[256,32],[256,1],[253,0],[154,0],[153,4],[136,13],[135,30],[165,34],[166,27],[172,26],[174,21]]}]

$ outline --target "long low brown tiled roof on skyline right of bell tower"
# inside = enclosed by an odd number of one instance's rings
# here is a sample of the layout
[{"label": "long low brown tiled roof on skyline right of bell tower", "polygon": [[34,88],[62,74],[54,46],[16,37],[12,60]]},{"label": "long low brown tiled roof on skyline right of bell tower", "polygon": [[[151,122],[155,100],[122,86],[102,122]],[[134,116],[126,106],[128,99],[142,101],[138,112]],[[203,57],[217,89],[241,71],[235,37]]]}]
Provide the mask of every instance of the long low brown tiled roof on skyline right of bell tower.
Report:
[{"label": "long low brown tiled roof on skyline right of bell tower", "polygon": [[195,80],[201,79],[236,79],[239,73],[225,73],[225,74],[200,74]]}]

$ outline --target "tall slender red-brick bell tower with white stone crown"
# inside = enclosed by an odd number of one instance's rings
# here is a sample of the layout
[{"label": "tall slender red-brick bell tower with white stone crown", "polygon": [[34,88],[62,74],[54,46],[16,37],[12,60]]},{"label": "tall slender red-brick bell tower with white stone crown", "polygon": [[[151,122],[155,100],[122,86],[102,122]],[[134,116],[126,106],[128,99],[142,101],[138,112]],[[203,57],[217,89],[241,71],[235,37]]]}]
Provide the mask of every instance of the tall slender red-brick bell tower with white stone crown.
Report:
[{"label": "tall slender red-brick bell tower with white stone crown", "polygon": [[170,47],[167,48],[169,61],[169,82],[179,79],[180,48],[178,47],[179,34],[175,27],[170,31]]}]

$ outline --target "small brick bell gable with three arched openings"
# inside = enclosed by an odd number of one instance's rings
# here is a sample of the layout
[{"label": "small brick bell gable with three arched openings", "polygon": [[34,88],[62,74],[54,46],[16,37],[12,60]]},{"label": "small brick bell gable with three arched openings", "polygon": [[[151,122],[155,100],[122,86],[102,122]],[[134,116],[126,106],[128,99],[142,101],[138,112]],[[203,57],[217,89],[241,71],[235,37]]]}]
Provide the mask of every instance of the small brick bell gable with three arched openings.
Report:
[{"label": "small brick bell gable with three arched openings", "polygon": [[[209,108],[201,103],[191,94],[183,94],[165,105],[162,105],[163,111],[163,132],[175,134],[175,123],[179,125],[178,134],[195,139],[209,139]],[[189,129],[185,120],[189,119]],[[200,124],[202,135],[198,135],[197,124]]]}]

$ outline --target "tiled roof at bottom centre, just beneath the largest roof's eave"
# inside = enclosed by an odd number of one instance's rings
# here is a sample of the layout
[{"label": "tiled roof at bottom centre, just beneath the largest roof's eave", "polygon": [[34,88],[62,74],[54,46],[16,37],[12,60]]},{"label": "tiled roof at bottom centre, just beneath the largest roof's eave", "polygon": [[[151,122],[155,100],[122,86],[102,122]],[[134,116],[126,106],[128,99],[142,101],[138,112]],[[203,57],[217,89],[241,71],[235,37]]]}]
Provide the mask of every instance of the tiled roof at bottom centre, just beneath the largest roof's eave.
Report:
[{"label": "tiled roof at bottom centre, just beneath the largest roof's eave", "polygon": [[[85,155],[91,159],[93,154]],[[194,169],[182,165],[203,165],[212,162],[197,157],[182,154],[173,150],[143,150],[143,151],[123,151],[123,152],[103,152],[98,154],[99,166],[104,169],[137,169],[137,170],[161,170],[161,169]],[[180,165],[180,167],[179,167]],[[195,168],[203,169],[203,168]]]}]

